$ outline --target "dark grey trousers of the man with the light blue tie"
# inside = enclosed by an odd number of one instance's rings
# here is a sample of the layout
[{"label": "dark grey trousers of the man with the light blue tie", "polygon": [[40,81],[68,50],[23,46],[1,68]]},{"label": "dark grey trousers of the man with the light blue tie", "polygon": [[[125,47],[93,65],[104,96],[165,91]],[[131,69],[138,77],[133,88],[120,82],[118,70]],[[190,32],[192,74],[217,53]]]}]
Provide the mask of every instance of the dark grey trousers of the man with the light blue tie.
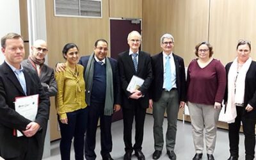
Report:
[{"label": "dark grey trousers of the man with the light blue tie", "polygon": [[170,92],[163,91],[161,98],[157,102],[153,102],[155,150],[163,150],[163,120],[165,110],[168,120],[166,150],[172,151],[175,147],[177,116],[179,112],[179,94],[177,89],[172,89]]}]

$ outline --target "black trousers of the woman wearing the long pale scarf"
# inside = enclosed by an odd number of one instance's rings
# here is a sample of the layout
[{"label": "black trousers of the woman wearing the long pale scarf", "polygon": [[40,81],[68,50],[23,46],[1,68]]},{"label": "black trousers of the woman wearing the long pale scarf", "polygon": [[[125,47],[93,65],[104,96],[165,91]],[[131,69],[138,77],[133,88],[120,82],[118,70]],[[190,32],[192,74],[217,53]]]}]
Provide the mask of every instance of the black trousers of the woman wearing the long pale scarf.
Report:
[{"label": "black trousers of the woman wearing the long pale scarf", "polygon": [[244,148],[246,160],[254,159],[255,154],[255,121],[244,118],[246,111],[243,107],[236,106],[237,116],[235,122],[228,124],[228,138],[231,156],[239,156],[239,129],[241,122],[244,131]]}]

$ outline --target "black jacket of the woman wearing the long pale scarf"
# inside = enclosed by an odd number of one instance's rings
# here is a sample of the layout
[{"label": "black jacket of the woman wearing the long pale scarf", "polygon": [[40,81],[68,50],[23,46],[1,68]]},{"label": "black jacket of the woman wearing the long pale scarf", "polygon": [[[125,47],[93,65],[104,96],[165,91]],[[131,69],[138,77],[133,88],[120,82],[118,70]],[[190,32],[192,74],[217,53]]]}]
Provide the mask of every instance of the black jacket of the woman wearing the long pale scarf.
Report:
[{"label": "black jacket of the woman wearing the long pale scarf", "polygon": [[[226,73],[228,80],[228,71],[232,62],[226,65]],[[227,82],[228,88],[228,82]],[[228,89],[226,88],[224,102],[227,102],[228,99]],[[245,77],[245,86],[244,86],[244,106],[250,104],[253,107],[253,110],[250,112],[245,111],[244,107],[244,118],[249,118],[256,120],[256,61],[252,61]]]}]

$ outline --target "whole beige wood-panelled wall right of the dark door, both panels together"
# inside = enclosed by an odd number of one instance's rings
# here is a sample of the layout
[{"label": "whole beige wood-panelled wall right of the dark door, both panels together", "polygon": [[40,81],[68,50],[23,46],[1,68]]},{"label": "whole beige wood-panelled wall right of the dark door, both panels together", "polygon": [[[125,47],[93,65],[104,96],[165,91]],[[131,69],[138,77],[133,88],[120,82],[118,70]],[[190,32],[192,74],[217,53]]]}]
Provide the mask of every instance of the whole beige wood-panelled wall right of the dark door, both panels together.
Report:
[{"label": "whole beige wood-panelled wall right of the dark door, both panels together", "polygon": [[256,43],[256,1],[253,0],[147,0],[143,1],[143,50],[152,54],[161,51],[159,38],[171,33],[175,38],[174,52],[188,66],[195,58],[198,42],[209,40],[214,58],[225,65],[236,56],[237,40]]}]

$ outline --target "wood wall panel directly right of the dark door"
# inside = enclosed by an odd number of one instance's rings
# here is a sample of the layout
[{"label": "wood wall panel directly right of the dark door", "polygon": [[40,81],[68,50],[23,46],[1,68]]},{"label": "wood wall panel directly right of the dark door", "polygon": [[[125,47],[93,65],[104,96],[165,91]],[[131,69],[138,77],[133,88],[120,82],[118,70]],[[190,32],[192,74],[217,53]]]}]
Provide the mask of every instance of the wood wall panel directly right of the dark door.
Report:
[{"label": "wood wall panel directly right of the dark door", "polygon": [[187,66],[195,58],[195,45],[207,40],[208,23],[209,1],[143,1],[143,50],[160,52],[161,36],[171,33],[174,52],[184,58]]}]

